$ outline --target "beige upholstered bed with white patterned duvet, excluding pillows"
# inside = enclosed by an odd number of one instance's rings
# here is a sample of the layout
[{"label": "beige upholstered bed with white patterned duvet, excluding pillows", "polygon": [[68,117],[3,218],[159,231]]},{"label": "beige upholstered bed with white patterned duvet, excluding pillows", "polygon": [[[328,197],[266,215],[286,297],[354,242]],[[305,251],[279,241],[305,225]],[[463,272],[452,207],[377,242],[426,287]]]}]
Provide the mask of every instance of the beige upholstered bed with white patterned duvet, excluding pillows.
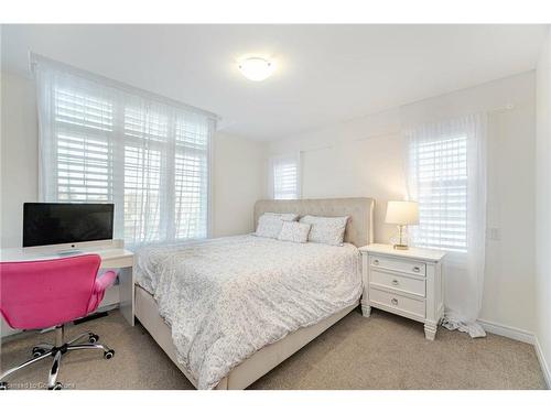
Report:
[{"label": "beige upholstered bed with white patterned duvet, excluding pillows", "polygon": [[263,213],[349,216],[342,247],[225,237],[137,256],[136,316],[198,389],[245,389],[357,307],[371,198],[259,200]]}]

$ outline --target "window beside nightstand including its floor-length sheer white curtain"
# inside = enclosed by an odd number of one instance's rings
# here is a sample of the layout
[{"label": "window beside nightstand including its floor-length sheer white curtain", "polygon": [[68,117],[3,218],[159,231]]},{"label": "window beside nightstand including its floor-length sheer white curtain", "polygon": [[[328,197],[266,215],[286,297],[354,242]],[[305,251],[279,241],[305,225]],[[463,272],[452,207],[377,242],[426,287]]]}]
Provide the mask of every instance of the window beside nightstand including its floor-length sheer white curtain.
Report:
[{"label": "window beside nightstand including its floor-length sheer white curtain", "polygon": [[409,142],[408,192],[419,202],[412,243],[446,250],[443,324],[472,337],[482,308],[486,262],[487,115],[417,127]]}]

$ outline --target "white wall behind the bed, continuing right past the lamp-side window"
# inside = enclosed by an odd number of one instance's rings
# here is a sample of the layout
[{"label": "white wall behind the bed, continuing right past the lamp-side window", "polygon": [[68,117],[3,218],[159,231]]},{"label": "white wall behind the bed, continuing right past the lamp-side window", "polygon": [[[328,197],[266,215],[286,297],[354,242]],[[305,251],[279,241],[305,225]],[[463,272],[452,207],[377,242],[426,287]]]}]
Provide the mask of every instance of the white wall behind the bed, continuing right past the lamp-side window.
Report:
[{"label": "white wall behind the bed, continuing right past the lamp-side window", "polygon": [[[508,104],[514,109],[501,109]],[[303,152],[303,197],[376,198],[375,239],[388,242],[395,228],[383,222],[386,203],[406,196],[400,130],[482,110],[489,111],[488,227],[500,240],[488,241],[480,318],[533,332],[533,73],[276,141],[269,154]]]}]

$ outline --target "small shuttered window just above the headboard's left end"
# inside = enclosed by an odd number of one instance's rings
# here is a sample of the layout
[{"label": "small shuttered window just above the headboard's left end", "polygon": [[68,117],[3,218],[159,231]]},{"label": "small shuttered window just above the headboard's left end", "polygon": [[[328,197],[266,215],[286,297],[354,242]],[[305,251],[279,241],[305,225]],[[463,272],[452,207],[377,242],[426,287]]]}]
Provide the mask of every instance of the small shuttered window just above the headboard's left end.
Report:
[{"label": "small shuttered window just above the headboard's left end", "polygon": [[271,167],[273,199],[299,199],[300,155],[273,157]]}]

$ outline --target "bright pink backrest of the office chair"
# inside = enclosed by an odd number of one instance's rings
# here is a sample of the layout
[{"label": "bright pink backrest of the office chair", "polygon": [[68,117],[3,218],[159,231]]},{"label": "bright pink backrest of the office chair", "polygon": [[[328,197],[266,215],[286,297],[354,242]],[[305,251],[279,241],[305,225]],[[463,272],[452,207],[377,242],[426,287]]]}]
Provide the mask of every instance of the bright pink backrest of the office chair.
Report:
[{"label": "bright pink backrest of the office chair", "polygon": [[12,328],[46,328],[87,314],[101,259],[87,254],[0,263],[0,312]]}]

